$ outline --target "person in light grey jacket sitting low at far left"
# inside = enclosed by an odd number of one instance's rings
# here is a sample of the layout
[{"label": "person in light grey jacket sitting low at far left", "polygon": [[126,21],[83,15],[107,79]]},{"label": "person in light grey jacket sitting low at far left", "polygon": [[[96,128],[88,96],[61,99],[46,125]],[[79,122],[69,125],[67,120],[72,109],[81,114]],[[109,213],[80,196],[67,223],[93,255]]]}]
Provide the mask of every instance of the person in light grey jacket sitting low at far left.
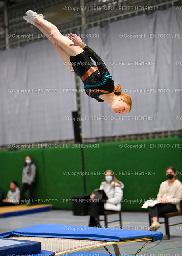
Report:
[{"label": "person in light grey jacket sitting low at far left", "polygon": [[10,190],[7,193],[6,199],[3,199],[0,206],[12,206],[20,203],[20,189],[16,181],[10,182]]}]

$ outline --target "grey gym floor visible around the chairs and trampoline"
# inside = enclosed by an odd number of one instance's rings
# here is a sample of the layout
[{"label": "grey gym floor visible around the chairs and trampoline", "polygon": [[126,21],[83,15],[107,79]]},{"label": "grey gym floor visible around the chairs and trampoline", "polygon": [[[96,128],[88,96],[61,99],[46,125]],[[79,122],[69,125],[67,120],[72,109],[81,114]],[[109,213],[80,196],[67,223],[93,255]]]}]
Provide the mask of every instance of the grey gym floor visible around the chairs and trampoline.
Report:
[{"label": "grey gym floor visible around the chairs and trampoline", "polygon": [[[114,219],[117,215],[108,216],[108,220]],[[74,216],[71,210],[51,210],[49,212],[27,214],[16,217],[0,218],[0,233],[23,228],[37,224],[63,224],[75,226],[88,226],[89,216]],[[161,219],[162,220],[162,219]],[[170,224],[181,222],[181,217],[169,219]],[[104,222],[100,222],[104,226]],[[119,228],[119,222],[111,225]],[[149,220],[147,212],[122,212],[123,229],[129,230],[149,230]],[[182,225],[170,227],[170,240],[165,234],[164,224],[158,229],[164,234],[162,241],[149,242],[145,248],[137,255],[139,256],[182,256]],[[122,255],[135,254],[145,242],[131,242],[119,244]],[[107,246],[108,250],[114,254],[112,245]],[[93,248],[88,251],[107,253],[103,247]],[[109,254],[108,254],[109,255]]]}]

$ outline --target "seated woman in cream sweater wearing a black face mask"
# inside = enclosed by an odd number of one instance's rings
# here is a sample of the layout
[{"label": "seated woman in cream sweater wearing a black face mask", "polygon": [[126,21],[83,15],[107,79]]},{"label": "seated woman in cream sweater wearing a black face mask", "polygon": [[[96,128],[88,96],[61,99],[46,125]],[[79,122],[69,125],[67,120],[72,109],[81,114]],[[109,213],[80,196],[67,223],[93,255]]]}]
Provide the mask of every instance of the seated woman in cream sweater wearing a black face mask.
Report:
[{"label": "seated woman in cream sweater wearing a black face mask", "polygon": [[179,202],[182,198],[182,183],[178,180],[176,169],[173,166],[166,168],[166,176],[168,180],[165,180],[160,184],[156,198],[160,203],[153,207],[149,207],[153,220],[150,230],[157,230],[161,226],[158,222],[159,216],[169,212],[180,211]]}]

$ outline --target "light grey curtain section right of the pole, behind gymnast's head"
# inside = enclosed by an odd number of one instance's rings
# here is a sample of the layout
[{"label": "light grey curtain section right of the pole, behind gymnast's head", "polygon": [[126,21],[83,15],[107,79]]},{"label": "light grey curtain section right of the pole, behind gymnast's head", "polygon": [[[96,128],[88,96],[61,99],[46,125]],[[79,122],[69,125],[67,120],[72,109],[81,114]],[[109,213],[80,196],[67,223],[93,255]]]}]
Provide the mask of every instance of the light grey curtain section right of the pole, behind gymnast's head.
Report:
[{"label": "light grey curtain section right of the pole, behind gymnast's head", "polygon": [[86,138],[182,129],[182,35],[176,36],[182,33],[182,11],[170,8],[85,33],[99,34],[86,43],[133,101],[128,114],[118,115],[82,94]]}]

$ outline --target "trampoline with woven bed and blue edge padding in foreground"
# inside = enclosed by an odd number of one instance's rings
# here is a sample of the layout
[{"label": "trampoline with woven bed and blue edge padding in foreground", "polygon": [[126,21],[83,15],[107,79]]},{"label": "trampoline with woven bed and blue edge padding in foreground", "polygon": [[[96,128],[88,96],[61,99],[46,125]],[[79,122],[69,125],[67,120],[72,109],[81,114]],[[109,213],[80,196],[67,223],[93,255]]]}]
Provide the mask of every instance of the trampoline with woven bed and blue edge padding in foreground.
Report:
[{"label": "trampoline with woven bed and blue edge padding in foreground", "polygon": [[[162,237],[161,232],[56,224],[39,224],[0,234],[0,238],[8,240],[40,242],[41,250],[50,252],[50,255],[54,252],[55,256],[70,253],[73,256],[78,251],[107,245],[113,245],[115,255],[119,256],[121,255],[118,248],[120,243],[144,241],[147,244],[150,241],[161,240]],[[30,253],[27,251],[27,254]],[[2,255],[4,254],[0,251],[0,256]]]}]

